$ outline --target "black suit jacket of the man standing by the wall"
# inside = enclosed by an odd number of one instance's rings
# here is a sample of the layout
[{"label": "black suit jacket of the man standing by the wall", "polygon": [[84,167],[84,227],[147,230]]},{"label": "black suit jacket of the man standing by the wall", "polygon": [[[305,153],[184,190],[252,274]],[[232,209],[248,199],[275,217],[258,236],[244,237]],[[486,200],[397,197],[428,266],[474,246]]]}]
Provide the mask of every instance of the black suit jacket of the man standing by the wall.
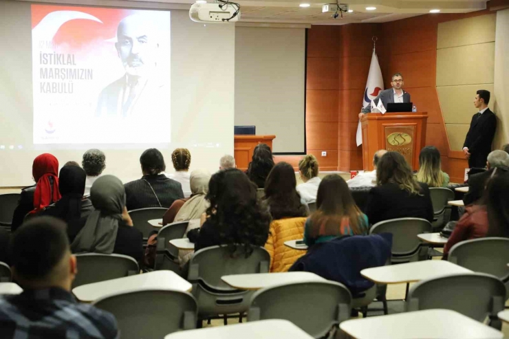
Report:
[{"label": "black suit jacket of the man standing by the wall", "polygon": [[497,118],[490,109],[486,109],[480,116],[479,113],[474,114],[463,144],[463,147],[468,147],[470,152],[468,160],[470,167],[486,166],[486,159],[491,151],[491,143],[496,129]]}]

